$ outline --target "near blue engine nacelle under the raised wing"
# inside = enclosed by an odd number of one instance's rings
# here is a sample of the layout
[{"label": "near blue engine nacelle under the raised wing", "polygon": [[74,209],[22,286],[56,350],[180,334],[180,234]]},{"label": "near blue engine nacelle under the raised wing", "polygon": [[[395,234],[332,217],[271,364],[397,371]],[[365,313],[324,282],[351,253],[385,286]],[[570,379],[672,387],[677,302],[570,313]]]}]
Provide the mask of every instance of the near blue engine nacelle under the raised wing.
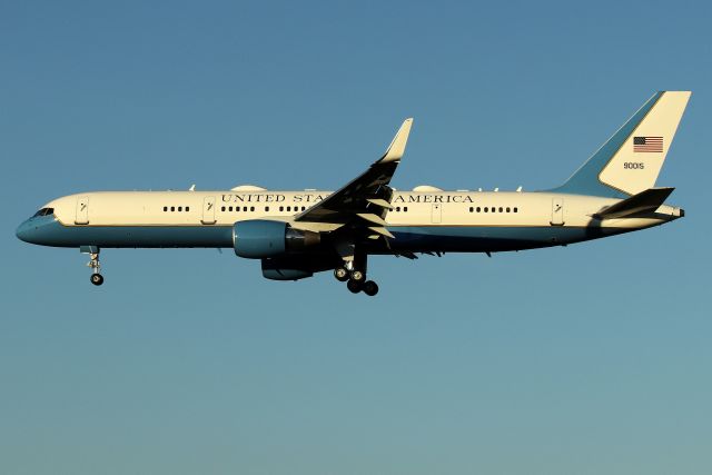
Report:
[{"label": "near blue engine nacelle under the raised wing", "polygon": [[250,219],[233,226],[235,254],[248,259],[284,256],[290,251],[317,246],[320,241],[318,232],[294,229],[283,221]]}]

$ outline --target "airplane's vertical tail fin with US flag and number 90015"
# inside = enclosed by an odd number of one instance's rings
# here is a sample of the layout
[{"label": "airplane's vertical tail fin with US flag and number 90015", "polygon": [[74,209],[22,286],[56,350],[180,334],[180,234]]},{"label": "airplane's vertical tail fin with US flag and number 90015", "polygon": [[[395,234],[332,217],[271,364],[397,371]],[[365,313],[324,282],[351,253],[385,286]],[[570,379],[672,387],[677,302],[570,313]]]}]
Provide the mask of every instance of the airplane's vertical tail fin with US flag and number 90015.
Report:
[{"label": "airplane's vertical tail fin with US flag and number 90015", "polygon": [[653,188],[690,95],[654,93],[564,185],[551,191],[626,198]]}]

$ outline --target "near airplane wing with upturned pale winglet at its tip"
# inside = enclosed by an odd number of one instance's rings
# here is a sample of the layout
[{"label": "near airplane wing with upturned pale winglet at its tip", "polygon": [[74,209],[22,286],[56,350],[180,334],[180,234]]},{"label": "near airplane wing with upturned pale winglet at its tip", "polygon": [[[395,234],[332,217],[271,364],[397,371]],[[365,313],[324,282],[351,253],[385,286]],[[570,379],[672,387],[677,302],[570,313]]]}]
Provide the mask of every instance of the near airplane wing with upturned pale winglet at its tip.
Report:
[{"label": "near airplane wing with upturned pale winglet at its tip", "polygon": [[348,185],[297,215],[295,221],[339,225],[355,222],[392,237],[384,220],[392,208],[393,189],[388,184],[405,152],[412,125],[413,119],[406,119],[383,157]]}]

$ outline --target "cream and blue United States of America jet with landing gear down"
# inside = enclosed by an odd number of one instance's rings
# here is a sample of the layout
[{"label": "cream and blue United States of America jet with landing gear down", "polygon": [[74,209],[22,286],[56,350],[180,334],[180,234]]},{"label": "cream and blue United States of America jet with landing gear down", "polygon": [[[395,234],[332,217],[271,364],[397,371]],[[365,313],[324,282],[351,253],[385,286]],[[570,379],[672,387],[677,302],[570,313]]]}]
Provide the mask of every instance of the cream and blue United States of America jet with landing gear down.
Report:
[{"label": "cream and blue United States of America jet with landing gear down", "polygon": [[261,260],[263,276],[298,280],[333,270],[354,294],[378,293],[367,279],[372,255],[409,259],[567,246],[684,217],[655,187],[690,99],[654,93],[563,185],[547,190],[396,190],[406,119],[386,152],[337,191],[96,191],[55,199],[22,222],[26,243],[79,248],[101,285],[101,248],[231,248]]}]

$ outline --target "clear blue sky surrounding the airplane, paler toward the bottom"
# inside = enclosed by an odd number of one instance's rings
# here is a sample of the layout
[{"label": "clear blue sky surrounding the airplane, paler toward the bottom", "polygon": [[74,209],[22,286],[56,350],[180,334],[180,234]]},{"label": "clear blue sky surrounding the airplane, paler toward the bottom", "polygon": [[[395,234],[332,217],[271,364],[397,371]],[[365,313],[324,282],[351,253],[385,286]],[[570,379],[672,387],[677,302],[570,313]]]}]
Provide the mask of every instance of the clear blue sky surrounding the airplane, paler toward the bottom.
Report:
[{"label": "clear blue sky surrounding the airplane, paler toward the bottom", "polygon": [[[149,4],[151,3],[151,4]],[[712,472],[709,2],[0,4],[3,474]],[[30,246],[82,190],[567,178],[692,90],[685,219],[567,248],[377,257],[376,298],[216,250]]]}]

